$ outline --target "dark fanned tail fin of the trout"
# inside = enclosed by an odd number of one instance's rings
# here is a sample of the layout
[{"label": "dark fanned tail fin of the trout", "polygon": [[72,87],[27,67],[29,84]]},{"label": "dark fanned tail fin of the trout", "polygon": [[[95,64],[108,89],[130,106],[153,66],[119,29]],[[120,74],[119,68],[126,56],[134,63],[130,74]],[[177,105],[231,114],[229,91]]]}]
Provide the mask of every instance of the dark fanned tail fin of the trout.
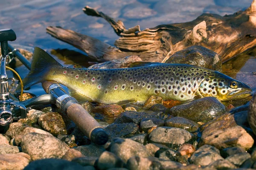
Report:
[{"label": "dark fanned tail fin of the trout", "polygon": [[[61,64],[52,58],[52,56],[50,56],[47,52],[41,48],[35,47],[31,63],[31,70],[29,71],[29,74],[22,80],[24,89],[45,80],[49,72],[49,68],[53,65],[61,66]],[[20,90],[21,87],[19,85],[16,92]]]}]

